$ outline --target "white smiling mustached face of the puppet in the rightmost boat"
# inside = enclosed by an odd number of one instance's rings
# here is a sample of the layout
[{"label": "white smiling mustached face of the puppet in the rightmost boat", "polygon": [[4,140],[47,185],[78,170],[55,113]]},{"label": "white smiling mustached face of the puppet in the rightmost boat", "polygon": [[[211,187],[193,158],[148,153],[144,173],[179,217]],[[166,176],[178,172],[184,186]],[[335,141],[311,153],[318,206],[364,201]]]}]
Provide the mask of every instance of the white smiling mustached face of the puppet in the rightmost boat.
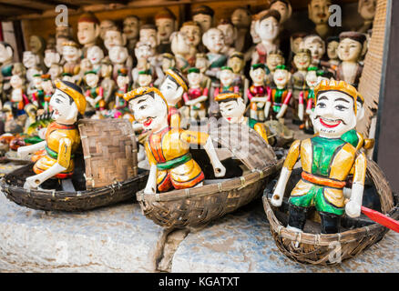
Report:
[{"label": "white smiling mustached face of the puppet in the rightmost boat", "polygon": [[353,98],[339,91],[322,92],[311,117],[315,132],[339,137],[356,125]]}]

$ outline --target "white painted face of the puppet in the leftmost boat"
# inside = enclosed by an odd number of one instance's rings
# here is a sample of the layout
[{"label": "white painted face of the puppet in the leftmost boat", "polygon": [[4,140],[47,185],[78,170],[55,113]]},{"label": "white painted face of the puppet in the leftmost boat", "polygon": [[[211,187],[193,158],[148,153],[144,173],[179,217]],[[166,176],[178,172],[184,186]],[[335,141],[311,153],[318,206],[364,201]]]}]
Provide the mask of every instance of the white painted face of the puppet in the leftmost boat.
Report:
[{"label": "white painted face of the puppet in the leftmost boat", "polygon": [[71,98],[56,89],[51,96],[50,106],[53,109],[53,119],[64,125],[74,124],[77,121],[77,105],[71,101]]}]

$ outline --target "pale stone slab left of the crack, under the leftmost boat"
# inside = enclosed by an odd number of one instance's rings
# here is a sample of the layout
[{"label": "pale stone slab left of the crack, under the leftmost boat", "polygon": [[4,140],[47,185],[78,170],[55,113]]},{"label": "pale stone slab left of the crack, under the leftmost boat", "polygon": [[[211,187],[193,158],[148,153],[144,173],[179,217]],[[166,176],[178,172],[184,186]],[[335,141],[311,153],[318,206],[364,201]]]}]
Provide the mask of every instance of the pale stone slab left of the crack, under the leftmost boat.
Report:
[{"label": "pale stone slab left of the crack, under the leftmost boat", "polygon": [[3,272],[155,272],[163,234],[137,204],[46,213],[0,193]]}]

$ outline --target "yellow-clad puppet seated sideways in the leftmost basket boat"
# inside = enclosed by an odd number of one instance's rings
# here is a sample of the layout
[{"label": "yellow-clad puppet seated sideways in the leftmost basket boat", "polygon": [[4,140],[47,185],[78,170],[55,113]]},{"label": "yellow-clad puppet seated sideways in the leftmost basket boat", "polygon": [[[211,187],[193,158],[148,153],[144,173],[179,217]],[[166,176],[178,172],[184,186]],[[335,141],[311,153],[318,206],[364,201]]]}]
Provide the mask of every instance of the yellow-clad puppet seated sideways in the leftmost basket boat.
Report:
[{"label": "yellow-clad puppet seated sideways in the leftmost basket boat", "polygon": [[51,177],[67,178],[74,170],[73,155],[80,143],[76,122],[77,114],[83,115],[86,99],[77,85],[56,81],[56,92],[50,99],[53,123],[46,130],[46,141],[18,148],[19,156],[44,149],[34,166],[36,176],[26,178],[26,188],[36,188]]}]

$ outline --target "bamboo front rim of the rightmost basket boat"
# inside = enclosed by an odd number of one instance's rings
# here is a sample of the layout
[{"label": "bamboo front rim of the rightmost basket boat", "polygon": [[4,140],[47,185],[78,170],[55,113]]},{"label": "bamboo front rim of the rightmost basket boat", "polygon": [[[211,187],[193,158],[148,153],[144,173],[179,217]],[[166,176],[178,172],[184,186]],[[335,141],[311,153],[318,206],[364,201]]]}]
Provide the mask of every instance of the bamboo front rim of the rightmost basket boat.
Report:
[{"label": "bamboo front rim of the rightmost basket boat", "polygon": [[[399,202],[399,198],[396,194],[394,194],[395,200]],[[274,212],[271,208],[271,204],[268,200],[268,197],[264,195],[262,197],[263,205],[265,207],[266,216],[268,217],[269,223],[271,224],[271,229],[278,233],[282,238],[287,238],[293,241],[298,241],[303,244],[310,245],[318,245],[318,246],[330,246],[333,242],[341,242],[341,243],[351,243],[359,239],[359,237],[369,236],[377,232],[383,231],[385,226],[381,226],[378,223],[374,223],[371,226],[362,226],[350,230],[346,230],[342,233],[337,234],[311,234],[311,233],[298,233],[292,230],[287,229],[287,227],[282,226],[281,222],[274,215]],[[396,204],[387,214],[386,216],[390,216],[391,218],[398,219],[399,218],[399,205]]]}]

